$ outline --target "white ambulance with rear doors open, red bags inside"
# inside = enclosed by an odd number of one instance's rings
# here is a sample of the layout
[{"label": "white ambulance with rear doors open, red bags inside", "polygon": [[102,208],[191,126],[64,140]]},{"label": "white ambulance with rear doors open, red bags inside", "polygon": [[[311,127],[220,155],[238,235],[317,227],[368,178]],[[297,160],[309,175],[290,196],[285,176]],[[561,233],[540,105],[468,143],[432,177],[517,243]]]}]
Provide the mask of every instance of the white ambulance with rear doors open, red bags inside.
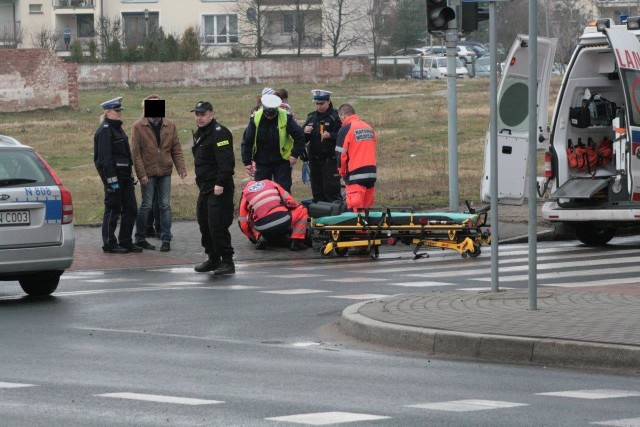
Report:
[{"label": "white ambulance with rear doors open, red bags inside", "polygon": [[[596,25],[597,24],[597,25]],[[616,229],[640,225],[640,17],[598,20],[585,29],[567,67],[547,127],[556,42],[538,41],[537,178],[544,219],[575,229],[586,245],[605,245]],[[528,154],[528,37],[509,52],[498,87],[498,202],[524,201]],[[489,144],[481,198],[490,200]]]}]

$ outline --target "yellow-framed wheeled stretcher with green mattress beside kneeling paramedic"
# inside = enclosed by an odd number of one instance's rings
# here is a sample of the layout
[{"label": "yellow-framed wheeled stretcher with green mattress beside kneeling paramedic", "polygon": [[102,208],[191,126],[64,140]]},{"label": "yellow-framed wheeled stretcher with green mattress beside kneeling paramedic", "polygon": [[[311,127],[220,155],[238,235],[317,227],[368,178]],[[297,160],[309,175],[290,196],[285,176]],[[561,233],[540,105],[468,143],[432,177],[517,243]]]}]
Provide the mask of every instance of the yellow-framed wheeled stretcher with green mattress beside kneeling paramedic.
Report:
[{"label": "yellow-framed wheeled stretcher with green mattress beside kneeling paramedic", "polygon": [[[468,213],[414,212],[411,208],[370,208],[362,212],[310,218],[313,247],[323,256],[345,256],[349,248],[365,249],[377,258],[382,245],[414,244],[415,258],[422,247],[451,249],[477,257],[480,246],[491,242],[486,228],[489,206]],[[484,227],[484,229],[483,229]]]}]

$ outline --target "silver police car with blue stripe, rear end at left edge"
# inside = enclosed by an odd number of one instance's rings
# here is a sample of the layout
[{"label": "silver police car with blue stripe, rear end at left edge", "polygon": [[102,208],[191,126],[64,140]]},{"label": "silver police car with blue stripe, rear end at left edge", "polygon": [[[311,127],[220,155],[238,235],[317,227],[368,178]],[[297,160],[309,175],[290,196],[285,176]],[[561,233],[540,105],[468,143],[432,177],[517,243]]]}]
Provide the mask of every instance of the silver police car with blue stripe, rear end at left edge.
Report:
[{"label": "silver police car with blue stripe, rear end at left edge", "polygon": [[71,193],[33,148],[0,135],[0,281],[51,295],[74,249]]}]

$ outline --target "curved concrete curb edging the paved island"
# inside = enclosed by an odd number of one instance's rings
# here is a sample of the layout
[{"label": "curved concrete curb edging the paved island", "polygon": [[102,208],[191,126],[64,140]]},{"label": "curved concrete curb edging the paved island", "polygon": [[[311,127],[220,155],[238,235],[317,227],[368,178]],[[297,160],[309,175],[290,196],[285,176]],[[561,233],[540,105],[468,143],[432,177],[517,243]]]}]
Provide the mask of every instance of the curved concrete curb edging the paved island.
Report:
[{"label": "curved concrete curb edging the paved island", "polygon": [[640,372],[640,347],[403,326],[361,315],[365,304],[345,308],[340,320],[342,330],[361,341],[487,362]]}]

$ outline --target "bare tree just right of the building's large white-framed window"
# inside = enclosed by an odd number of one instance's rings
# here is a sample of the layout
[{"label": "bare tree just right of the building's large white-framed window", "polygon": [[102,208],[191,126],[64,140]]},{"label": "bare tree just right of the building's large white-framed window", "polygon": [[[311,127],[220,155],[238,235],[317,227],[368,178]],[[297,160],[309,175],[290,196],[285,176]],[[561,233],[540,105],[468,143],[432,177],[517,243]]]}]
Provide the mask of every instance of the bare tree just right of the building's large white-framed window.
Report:
[{"label": "bare tree just right of the building's large white-framed window", "polygon": [[263,0],[239,0],[238,1],[238,26],[242,28],[242,45],[261,58],[265,50],[270,49],[270,44],[265,35],[269,29],[268,17],[270,11],[264,10]]}]

